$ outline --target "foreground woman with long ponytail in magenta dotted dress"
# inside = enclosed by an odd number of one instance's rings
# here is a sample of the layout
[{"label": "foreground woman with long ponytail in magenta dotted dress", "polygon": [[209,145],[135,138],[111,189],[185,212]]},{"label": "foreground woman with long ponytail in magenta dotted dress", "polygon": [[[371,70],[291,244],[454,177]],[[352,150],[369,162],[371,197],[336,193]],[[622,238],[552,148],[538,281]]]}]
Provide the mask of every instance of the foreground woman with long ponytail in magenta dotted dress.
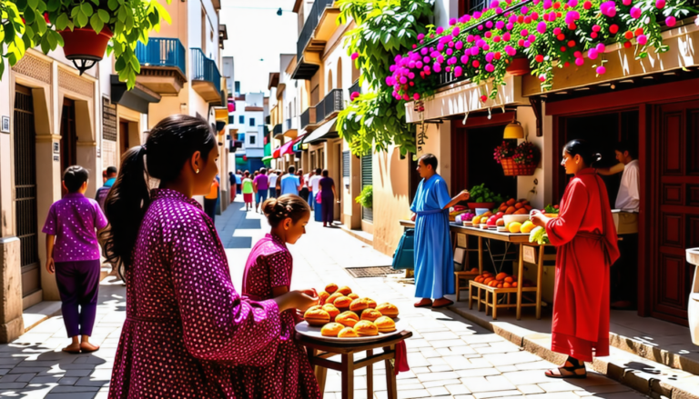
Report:
[{"label": "foreground woman with long ponytail in magenta dotted dress", "polygon": [[[103,233],[127,277],[109,398],[249,397],[254,375],[239,366],[271,364],[280,314],[318,303],[312,290],[260,302],[236,292],[214,224],[192,198],[208,194],[217,159],[211,127],[187,115],[168,116],[123,158]],[[159,180],[152,192],[146,171]]]}]

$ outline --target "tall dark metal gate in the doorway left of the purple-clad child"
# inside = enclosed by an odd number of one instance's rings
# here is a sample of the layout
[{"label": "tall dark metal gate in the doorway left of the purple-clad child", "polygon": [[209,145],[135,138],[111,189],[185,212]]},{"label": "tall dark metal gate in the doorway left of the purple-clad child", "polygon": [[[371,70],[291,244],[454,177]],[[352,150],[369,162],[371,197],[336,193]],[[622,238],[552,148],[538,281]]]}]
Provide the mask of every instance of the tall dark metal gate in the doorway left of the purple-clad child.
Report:
[{"label": "tall dark metal gate in the doorway left of the purple-clad child", "polygon": [[36,214],[36,143],[31,91],[15,88],[15,223],[20,241],[22,296],[41,289]]}]

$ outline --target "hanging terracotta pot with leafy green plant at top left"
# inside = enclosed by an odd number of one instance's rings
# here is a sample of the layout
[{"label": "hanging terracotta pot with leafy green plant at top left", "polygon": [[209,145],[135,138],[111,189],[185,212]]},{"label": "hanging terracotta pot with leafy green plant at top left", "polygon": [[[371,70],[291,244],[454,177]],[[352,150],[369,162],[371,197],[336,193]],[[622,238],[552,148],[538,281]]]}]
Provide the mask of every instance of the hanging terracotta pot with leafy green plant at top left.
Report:
[{"label": "hanging terracotta pot with leafy green plant at top left", "polygon": [[113,51],[115,70],[129,89],[140,72],[137,42],[147,44],[161,19],[171,23],[163,5],[148,0],[0,0],[0,14],[6,15],[0,76],[5,58],[15,65],[27,48],[38,45],[47,54],[60,45],[81,74]]}]

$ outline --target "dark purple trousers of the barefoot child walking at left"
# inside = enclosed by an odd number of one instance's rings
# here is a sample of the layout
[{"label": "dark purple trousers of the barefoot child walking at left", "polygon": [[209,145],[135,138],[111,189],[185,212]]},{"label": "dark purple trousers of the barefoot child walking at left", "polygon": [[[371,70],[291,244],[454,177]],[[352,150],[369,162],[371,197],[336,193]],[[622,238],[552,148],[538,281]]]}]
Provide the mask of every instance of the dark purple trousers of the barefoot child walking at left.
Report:
[{"label": "dark purple trousers of the barefoot child walking at left", "polygon": [[68,337],[92,335],[97,312],[99,272],[99,259],[56,262],[56,284],[61,294],[61,311]]}]

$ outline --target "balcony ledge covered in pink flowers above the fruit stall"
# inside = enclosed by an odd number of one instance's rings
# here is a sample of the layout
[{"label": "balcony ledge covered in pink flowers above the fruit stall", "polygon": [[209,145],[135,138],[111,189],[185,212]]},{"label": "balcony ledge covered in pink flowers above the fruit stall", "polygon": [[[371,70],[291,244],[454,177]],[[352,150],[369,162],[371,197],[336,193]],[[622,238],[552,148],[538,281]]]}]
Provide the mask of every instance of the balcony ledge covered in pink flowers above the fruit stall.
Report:
[{"label": "balcony ledge covered in pink flowers above the fruit stall", "polygon": [[696,3],[492,0],[419,35],[385,83],[409,102],[414,122],[525,105],[530,96],[689,78],[699,65]]}]

